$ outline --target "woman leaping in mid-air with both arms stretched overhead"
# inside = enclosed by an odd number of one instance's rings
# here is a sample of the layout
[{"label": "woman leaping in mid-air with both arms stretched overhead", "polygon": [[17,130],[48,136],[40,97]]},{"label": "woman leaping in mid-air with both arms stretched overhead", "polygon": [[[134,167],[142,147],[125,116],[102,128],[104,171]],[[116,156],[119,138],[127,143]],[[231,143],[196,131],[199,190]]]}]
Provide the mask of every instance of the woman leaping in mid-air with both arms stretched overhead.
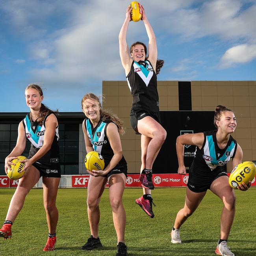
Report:
[{"label": "woman leaping in mid-air with both arms stretched overhead", "polygon": [[132,7],[126,9],[126,18],[119,33],[119,51],[124,67],[128,86],[133,96],[130,121],[136,134],[141,134],[141,186],[143,196],[135,202],[153,218],[151,189],[152,166],[158,152],[166,138],[166,131],[161,126],[159,99],[157,91],[157,78],[163,61],[157,59],[158,50],[156,36],[147,19],[145,10],[141,6],[142,18],[148,35],[147,47],[144,43],[135,42],[130,51],[126,43],[126,32],[131,21]]}]

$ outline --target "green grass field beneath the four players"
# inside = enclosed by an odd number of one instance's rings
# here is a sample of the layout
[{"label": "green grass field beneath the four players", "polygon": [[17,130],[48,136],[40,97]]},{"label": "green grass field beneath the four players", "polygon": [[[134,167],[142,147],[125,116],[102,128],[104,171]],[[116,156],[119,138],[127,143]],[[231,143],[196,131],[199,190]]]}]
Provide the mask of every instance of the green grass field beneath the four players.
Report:
[{"label": "green grass field beneath the four players", "polygon": [[[103,249],[80,250],[90,236],[86,211],[87,189],[59,189],[57,206],[59,223],[56,250],[43,252],[48,229],[43,208],[43,191],[32,189],[13,224],[12,239],[0,239],[0,255],[115,255],[116,235],[108,200],[108,189],[100,203],[99,237]],[[182,244],[171,244],[170,231],[176,213],[184,205],[185,188],[153,191],[155,217],[150,219],[137,204],[142,189],[125,189],[126,245],[130,256],[213,256],[219,239],[222,202],[210,191],[197,211],[184,223],[180,232]],[[256,255],[256,188],[235,191],[237,209],[228,245],[236,256]],[[4,221],[14,189],[0,189],[0,221]]]}]

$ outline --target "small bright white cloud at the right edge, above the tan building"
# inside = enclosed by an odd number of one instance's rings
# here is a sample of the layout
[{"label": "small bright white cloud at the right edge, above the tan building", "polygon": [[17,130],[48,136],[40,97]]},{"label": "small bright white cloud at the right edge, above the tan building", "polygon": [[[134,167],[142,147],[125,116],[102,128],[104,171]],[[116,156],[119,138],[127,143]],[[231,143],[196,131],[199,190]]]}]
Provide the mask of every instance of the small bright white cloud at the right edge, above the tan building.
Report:
[{"label": "small bright white cloud at the right edge, above the tan building", "polygon": [[237,45],[229,48],[221,57],[220,67],[230,67],[239,63],[247,63],[256,58],[256,44],[255,45]]}]

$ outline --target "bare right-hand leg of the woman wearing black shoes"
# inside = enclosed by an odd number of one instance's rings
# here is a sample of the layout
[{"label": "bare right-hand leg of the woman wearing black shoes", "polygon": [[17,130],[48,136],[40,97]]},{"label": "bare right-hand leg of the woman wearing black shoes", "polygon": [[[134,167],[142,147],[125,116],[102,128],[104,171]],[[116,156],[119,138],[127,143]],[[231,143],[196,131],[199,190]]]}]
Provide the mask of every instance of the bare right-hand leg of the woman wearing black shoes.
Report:
[{"label": "bare right-hand leg of the woman wearing black shoes", "polygon": [[117,243],[124,243],[124,230],[126,224],[126,214],[122,204],[122,194],[126,176],[114,174],[109,177],[109,202],[112,208],[113,222],[117,233]]}]

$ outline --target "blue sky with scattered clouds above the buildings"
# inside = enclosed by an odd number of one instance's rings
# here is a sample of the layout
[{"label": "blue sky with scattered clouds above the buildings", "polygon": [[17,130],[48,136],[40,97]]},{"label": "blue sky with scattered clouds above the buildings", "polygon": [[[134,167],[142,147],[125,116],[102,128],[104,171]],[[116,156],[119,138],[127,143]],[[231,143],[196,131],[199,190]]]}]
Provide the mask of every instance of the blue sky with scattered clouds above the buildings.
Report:
[{"label": "blue sky with scattered clouds above the buildings", "polygon": [[[256,0],[141,0],[156,33],[158,80],[256,80]],[[24,88],[44,103],[80,111],[102,80],[125,80],[118,34],[124,0],[0,0],[0,112],[26,112]],[[127,34],[148,42],[143,22]]]}]

